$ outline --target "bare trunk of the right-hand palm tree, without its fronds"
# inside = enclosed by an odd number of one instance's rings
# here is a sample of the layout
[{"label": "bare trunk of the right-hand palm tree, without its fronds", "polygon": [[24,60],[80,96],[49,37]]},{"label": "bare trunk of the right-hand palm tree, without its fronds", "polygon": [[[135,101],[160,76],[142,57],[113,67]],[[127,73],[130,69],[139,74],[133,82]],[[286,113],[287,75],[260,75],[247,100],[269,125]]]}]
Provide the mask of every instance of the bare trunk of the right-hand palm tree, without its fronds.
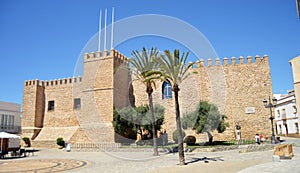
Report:
[{"label": "bare trunk of the right-hand palm tree, without its fronds", "polygon": [[185,165],[184,159],[184,149],[183,149],[183,139],[182,139],[182,128],[180,122],[180,110],[179,110],[179,102],[178,102],[178,90],[174,90],[175,95],[175,110],[176,110],[176,125],[178,132],[178,154],[179,154],[179,165]]}]

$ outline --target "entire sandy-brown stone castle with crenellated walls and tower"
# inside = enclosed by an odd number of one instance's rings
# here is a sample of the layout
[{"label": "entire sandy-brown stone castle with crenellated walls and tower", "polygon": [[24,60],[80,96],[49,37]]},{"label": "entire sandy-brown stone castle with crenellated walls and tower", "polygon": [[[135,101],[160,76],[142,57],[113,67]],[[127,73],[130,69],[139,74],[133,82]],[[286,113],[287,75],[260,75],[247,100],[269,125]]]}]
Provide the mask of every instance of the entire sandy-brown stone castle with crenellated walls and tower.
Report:
[{"label": "entire sandy-brown stone castle with crenellated walls and tower", "polygon": [[[72,144],[114,143],[113,109],[148,103],[144,84],[131,82],[123,66],[128,66],[127,58],[117,50],[91,52],[84,56],[82,77],[25,81],[22,136],[30,137],[35,146],[48,147],[56,145],[58,137]],[[193,111],[200,100],[208,100],[228,117],[230,125],[224,133],[214,133],[215,140],[236,139],[236,125],[242,138],[254,138],[256,133],[270,136],[269,109],[262,103],[272,96],[267,55],[200,60],[191,70],[197,74],[180,85],[181,115]],[[156,84],[153,101],[165,107],[163,129],[172,134],[174,98],[164,97],[168,85]]]}]

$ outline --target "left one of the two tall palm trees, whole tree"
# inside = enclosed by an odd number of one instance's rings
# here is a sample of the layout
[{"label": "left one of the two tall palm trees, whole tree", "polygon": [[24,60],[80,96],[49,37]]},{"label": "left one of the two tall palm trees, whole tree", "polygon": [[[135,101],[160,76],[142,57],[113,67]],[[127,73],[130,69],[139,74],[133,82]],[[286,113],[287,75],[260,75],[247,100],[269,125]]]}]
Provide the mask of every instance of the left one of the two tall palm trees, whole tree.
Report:
[{"label": "left one of the two tall palm trees, whole tree", "polygon": [[150,51],[147,51],[146,48],[143,48],[142,52],[139,52],[138,50],[132,51],[132,58],[129,60],[131,71],[135,76],[134,80],[139,80],[146,86],[151,115],[150,118],[153,133],[154,156],[158,156],[158,147],[152,93],[153,87],[155,88],[155,80],[161,79],[161,72],[157,70],[158,64],[155,61],[155,59],[158,57],[158,53],[159,51],[156,48],[151,48]]}]

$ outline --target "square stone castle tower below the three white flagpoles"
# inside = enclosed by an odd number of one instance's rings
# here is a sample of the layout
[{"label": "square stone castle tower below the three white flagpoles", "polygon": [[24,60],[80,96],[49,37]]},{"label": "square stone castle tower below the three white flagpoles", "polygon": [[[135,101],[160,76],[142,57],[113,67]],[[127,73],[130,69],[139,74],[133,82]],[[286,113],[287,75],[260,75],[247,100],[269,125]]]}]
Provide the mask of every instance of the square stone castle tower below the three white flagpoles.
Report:
[{"label": "square stone castle tower below the three white flagpoles", "polygon": [[[127,58],[112,49],[85,54],[80,126],[93,142],[114,142],[113,108],[129,105]],[[124,67],[124,68],[123,68]],[[87,116],[88,115],[88,116]]]}]

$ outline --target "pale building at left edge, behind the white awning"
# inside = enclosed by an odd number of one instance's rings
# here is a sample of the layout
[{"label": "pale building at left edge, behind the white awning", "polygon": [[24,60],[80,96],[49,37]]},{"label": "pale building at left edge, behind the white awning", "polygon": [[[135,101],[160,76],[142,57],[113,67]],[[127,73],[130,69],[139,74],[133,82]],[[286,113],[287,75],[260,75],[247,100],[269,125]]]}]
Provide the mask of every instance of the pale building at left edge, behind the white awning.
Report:
[{"label": "pale building at left edge, behind the white awning", "polygon": [[0,101],[0,132],[21,133],[21,106]]}]

